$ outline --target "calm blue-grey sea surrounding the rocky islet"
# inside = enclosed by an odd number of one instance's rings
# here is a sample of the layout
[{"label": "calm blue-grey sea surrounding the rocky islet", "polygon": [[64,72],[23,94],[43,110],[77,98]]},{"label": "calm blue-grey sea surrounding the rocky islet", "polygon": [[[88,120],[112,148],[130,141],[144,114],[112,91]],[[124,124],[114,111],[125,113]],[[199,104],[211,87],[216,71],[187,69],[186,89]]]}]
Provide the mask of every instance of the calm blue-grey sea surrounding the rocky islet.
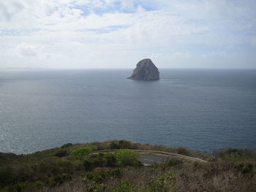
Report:
[{"label": "calm blue-grey sea surrounding the rocky islet", "polygon": [[0,71],[0,151],[132,142],[211,152],[256,148],[256,70]]}]

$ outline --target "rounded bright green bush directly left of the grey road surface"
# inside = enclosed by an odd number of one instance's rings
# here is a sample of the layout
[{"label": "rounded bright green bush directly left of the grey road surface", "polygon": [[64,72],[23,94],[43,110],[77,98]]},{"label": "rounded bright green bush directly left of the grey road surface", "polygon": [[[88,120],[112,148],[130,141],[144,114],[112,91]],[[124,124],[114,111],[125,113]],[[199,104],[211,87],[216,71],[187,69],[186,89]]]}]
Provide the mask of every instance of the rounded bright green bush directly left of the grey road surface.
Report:
[{"label": "rounded bright green bush directly left of the grey road surface", "polygon": [[136,166],[141,164],[139,156],[134,150],[120,150],[116,152],[116,161],[119,166]]}]

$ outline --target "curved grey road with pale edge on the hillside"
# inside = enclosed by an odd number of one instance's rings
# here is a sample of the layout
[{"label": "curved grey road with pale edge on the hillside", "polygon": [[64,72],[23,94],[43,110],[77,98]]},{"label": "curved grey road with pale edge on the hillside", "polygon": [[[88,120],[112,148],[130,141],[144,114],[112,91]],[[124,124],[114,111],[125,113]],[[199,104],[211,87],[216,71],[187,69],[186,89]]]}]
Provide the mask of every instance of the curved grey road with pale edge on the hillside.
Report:
[{"label": "curved grey road with pale edge on the hillside", "polygon": [[[106,153],[106,152],[113,152],[118,150],[97,150],[92,153]],[[169,161],[171,158],[180,158],[182,160],[187,161],[198,161],[201,163],[207,163],[207,161],[200,159],[200,158],[192,158],[186,155],[180,155],[177,153],[167,153],[163,151],[157,150],[134,150],[140,153],[140,161],[144,165],[151,165],[151,164],[163,164],[166,161]]]}]

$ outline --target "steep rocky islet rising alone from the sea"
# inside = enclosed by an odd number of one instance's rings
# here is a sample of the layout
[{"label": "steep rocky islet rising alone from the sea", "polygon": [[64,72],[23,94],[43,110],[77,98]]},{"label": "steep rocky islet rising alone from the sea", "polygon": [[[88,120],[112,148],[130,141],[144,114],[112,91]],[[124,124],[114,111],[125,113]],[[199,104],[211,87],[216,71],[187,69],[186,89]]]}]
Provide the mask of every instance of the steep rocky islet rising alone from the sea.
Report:
[{"label": "steep rocky islet rising alone from the sea", "polygon": [[159,80],[159,71],[150,58],[138,62],[136,68],[128,79],[131,80]]}]

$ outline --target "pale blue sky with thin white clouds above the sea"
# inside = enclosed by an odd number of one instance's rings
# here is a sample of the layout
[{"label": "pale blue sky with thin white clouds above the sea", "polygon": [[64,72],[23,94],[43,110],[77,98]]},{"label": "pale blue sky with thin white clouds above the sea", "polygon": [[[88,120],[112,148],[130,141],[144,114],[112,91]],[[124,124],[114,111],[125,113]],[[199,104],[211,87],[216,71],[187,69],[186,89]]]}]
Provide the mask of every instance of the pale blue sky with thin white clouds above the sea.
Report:
[{"label": "pale blue sky with thin white clouds above the sea", "polygon": [[0,0],[0,68],[256,68],[255,0]]}]

